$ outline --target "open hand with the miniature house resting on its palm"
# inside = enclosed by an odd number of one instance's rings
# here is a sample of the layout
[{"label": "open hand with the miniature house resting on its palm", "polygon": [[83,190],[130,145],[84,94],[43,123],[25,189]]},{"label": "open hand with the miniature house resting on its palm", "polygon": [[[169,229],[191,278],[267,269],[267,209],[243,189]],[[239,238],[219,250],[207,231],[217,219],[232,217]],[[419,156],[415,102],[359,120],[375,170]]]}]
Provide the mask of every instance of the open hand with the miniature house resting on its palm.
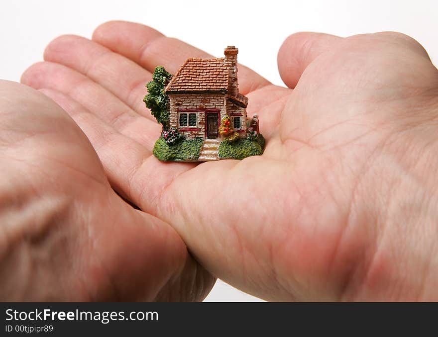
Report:
[{"label": "open hand with the miniature house resting on its palm", "polygon": [[396,33],[290,36],[289,88],[239,66],[263,156],[169,164],[144,84],[163,65],[209,57],[134,23],[62,36],[23,83],[84,130],[109,181],[172,224],[208,270],[268,300],[437,299],[438,72]]}]

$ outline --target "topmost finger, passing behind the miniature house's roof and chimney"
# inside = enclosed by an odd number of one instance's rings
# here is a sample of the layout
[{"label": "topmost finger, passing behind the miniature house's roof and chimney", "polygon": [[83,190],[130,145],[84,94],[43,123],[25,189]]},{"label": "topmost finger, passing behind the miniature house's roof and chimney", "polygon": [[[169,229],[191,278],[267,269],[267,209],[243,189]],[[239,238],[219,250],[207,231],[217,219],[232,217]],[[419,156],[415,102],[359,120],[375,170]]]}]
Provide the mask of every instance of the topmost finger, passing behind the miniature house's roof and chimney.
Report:
[{"label": "topmost finger, passing behind the miniature house's roof and chimney", "polygon": [[[131,59],[149,72],[153,72],[157,66],[164,66],[168,72],[175,74],[188,58],[212,58],[202,50],[166,37],[155,29],[139,23],[104,23],[95,30],[93,40]],[[242,65],[239,65],[238,72],[239,90],[242,94],[269,84],[266,79]]]}]

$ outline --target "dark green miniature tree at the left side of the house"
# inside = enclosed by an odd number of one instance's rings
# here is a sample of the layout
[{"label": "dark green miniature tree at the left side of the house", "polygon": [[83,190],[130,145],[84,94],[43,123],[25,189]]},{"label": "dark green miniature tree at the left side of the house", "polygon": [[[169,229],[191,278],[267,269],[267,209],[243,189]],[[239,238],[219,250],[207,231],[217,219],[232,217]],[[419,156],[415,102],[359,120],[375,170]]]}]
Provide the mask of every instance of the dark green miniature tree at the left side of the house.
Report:
[{"label": "dark green miniature tree at the left side of the house", "polygon": [[163,125],[163,130],[169,129],[169,96],[164,91],[166,85],[172,79],[172,74],[166,72],[164,67],[156,67],[152,75],[152,81],[146,84],[148,94],[143,102],[151,110],[158,123]]}]

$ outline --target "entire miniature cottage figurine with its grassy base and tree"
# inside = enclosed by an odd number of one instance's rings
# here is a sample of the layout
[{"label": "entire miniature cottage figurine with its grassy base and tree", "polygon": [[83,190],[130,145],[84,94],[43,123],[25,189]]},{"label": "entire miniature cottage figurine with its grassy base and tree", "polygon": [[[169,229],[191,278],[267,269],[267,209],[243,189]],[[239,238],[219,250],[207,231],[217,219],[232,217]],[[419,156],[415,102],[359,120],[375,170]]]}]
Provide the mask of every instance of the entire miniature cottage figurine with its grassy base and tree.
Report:
[{"label": "entire miniature cottage figurine with its grassy base and tree", "polygon": [[[156,88],[152,81],[147,84],[149,95],[144,101],[154,116],[154,106],[166,102],[161,107],[166,110],[164,123],[160,121],[162,140],[154,147],[158,159],[203,162],[262,154],[264,139],[258,131],[257,115],[247,121],[248,98],[239,93],[237,53],[237,48],[228,46],[223,58],[188,59],[174,76],[157,67],[156,83],[158,70],[165,74],[161,84],[165,85],[164,97],[157,100],[153,96]],[[252,127],[255,125],[257,130]]]}]

